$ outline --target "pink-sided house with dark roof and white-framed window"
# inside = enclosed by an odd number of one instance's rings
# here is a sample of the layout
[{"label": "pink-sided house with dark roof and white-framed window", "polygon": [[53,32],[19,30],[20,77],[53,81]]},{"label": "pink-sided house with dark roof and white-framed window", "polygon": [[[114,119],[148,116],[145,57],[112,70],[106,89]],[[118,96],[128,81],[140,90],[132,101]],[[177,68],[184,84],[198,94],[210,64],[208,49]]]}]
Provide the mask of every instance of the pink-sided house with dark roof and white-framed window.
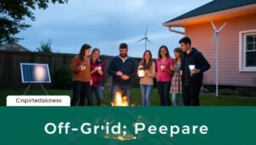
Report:
[{"label": "pink-sided house with dark roof and white-framed window", "polygon": [[[215,41],[211,20],[220,27],[218,49],[218,84],[220,86],[255,86],[256,78],[256,0],[214,0],[200,8],[167,21],[170,31],[189,36],[192,47],[199,49],[212,69],[204,75],[203,83],[215,85]],[[184,32],[175,31],[183,27]],[[250,87],[255,90],[255,87]]]}]

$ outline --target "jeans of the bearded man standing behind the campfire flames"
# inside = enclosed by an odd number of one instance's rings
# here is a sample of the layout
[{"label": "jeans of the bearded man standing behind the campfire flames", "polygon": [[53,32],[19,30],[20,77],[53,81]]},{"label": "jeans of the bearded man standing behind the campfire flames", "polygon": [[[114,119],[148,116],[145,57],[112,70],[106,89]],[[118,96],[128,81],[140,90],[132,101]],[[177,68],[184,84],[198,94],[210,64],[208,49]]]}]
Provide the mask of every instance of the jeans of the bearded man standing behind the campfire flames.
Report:
[{"label": "jeans of the bearded man standing behind the campfire flames", "polygon": [[112,102],[114,100],[116,92],[122,92],[123,96],[127,98],[127,101],[131,103],[131,85],[120,85],[117,83],[112,83],[112,88],[111,88]]}]

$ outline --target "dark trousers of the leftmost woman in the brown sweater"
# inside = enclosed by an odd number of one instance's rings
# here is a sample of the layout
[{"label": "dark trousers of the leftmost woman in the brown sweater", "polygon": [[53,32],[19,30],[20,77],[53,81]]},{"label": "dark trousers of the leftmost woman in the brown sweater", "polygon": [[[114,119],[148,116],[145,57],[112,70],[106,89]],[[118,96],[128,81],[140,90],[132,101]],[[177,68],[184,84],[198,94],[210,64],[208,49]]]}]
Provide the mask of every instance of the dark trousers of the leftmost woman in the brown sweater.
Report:
[{"label": "dark trousers of the leftmost woman in the brown sweater", "polygon": [[84,106],[85,98],[87,98],[88,106],[92,106],[90,82],[73,81],[73,98],[71,101],[71,106],[75,106],[78,102],[79,106]]}]

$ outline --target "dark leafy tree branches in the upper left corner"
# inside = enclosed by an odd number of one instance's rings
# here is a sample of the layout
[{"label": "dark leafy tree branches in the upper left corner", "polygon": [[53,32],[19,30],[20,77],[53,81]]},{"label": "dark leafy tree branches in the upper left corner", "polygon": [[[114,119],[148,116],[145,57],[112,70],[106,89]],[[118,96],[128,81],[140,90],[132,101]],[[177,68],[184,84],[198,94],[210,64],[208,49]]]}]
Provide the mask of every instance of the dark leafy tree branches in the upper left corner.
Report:
[{"label": "dark leafy tree branches in the upper left corner", "polygon": [[67,0],[0,0],[0,46],[4,42],[18,42],[15,34],[31,25],[26,19],[36,20],[32,10],[48,8],[49,3],[67,3]]}]

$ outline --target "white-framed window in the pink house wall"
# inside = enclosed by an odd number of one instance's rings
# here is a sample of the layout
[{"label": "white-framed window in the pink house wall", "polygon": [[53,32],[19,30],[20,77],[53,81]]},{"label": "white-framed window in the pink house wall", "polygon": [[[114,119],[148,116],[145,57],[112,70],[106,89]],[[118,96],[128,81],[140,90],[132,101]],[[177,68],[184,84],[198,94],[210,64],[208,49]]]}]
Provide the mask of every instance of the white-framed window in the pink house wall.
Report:
[{"label": "white-framed window in the pink house wall", "polygon": [[240,71],[256,71],[256,30],[240,32]]}]

